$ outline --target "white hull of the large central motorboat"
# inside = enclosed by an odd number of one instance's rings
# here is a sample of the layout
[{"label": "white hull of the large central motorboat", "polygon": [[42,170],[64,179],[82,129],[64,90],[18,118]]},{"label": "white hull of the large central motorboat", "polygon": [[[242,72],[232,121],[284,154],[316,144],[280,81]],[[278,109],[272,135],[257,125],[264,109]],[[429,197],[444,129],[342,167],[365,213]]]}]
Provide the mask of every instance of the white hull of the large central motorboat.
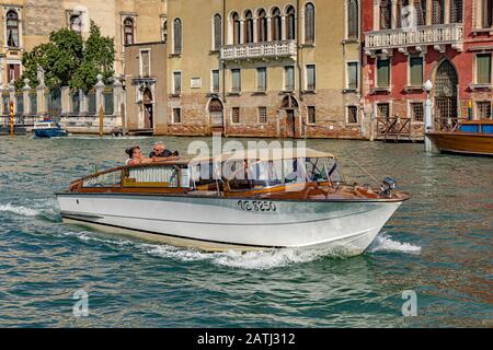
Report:
[{"label": "white hull of the large central motorboat", "polygon": [[364,253],[400,207],[392,201],[270,201],[59,194],[67,223],[208,252],[321,248]]}]

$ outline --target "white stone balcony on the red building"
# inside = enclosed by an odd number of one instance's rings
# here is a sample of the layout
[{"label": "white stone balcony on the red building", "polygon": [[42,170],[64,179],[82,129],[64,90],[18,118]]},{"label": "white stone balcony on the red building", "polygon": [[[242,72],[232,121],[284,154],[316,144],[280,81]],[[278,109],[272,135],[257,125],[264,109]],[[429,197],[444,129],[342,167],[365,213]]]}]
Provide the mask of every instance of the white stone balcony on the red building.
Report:
[{"label": "white stone balcony on the red building", "polygon": [[436,24],[365,33],[365,54],[368,56],[374,56],[377,50],[391,55],[394,48],[403,54],[411,47],[423,51],[427,46],[445,52],[446,45],[462,51],[462,24]]}]

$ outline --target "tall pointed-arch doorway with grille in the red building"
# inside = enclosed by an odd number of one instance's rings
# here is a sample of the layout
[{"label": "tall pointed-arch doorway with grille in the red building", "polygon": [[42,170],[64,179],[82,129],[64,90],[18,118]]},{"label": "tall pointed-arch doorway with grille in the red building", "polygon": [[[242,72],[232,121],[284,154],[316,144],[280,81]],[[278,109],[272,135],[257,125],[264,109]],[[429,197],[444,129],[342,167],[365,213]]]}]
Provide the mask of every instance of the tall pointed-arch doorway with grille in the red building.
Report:
[{"label": "tall pointed-arch doorway with grille in the red building", "polygon": [[457,124],[457,85],[459,78],[449,60],[444,60],[435,72],[435,121],[437,127],[449,129]]}]

